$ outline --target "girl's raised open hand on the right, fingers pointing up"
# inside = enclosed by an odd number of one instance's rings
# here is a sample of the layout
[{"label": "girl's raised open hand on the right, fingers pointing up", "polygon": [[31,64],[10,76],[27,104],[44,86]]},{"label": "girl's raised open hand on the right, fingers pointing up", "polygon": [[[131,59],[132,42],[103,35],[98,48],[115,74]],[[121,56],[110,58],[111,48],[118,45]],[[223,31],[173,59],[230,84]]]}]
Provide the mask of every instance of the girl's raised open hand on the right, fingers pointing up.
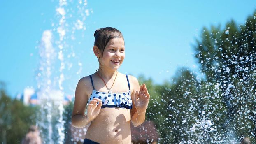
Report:
[{"label": "girl's raised open hand on the right, fingers pointing up", "polygon": [[146,111],[149,104],[150,95],[146,88],[146,84],[140,85],[140,92],[136,91],[135,93],[135,107],[137,111],[144,112]]}]

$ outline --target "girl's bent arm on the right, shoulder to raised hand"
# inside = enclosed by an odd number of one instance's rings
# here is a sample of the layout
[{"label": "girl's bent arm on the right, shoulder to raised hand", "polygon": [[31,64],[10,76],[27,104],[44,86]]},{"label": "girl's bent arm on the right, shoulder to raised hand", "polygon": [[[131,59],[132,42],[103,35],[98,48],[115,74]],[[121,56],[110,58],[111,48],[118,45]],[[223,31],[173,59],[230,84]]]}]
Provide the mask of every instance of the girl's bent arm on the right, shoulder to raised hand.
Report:
[{"label": "girl's bent arm on the right, shoulder to raised hand", "polygon": [[131,95],[133,108],[131,109],[131,121],[135,127],[145,121],[146,109],[149,103],[150,95],[146,85],[139,85],[138,80],[132,77],[133,93]]}]

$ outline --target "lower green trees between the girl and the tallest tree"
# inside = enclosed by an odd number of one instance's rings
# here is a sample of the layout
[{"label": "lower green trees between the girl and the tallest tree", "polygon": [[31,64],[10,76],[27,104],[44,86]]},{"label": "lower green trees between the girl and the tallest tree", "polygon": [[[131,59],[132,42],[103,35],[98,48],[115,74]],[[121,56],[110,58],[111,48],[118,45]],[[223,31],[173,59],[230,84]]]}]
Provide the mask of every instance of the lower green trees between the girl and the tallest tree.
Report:
[{"label": "lower green trees between the girl and the tallest tree", "polygon": [[156,124],[160,143],[179,143],[196,139],[191,132],[193,123],[196,123],[198,108],[199,82],[190,70],[181,68],[170,83],[161,85],[152,84],[151,79],[140,77],[140,83],[148,83],[151,99],[147,109],[147,120]]}]

